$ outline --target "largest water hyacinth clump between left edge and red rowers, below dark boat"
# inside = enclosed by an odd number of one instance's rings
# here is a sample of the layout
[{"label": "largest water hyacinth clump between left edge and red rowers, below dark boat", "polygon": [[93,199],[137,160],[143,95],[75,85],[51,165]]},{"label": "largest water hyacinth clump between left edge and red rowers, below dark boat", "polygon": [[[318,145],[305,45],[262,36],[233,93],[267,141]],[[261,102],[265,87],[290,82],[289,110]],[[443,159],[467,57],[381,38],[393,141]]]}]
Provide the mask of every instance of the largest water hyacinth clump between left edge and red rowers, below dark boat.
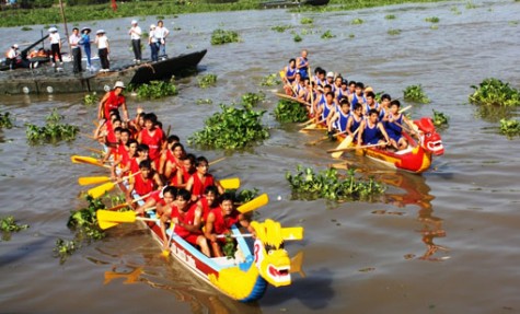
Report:
[{"label": "largest water hyacinth clump between left edge and red rowers, below dark boat", "polygon": [[63,116],[58,114],[55,108],[50,115],[46,117],[46,124],[43,127],[38,127],[33,124],[26,124],[25,133],[27,141],[33,144],[44,142],[59,142],[59,141],[72,141],[76,139],[76,135],[80,131],[80,128],[73,125],[61,123]]}]

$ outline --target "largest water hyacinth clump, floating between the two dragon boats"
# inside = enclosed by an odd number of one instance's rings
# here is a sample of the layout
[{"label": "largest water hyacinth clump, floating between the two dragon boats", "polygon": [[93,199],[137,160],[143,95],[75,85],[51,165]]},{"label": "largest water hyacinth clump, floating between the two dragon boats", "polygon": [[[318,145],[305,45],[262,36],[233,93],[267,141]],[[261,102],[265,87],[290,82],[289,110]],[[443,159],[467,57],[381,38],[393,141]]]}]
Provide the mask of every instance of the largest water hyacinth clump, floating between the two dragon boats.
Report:
[{"label": "largest water hyacinth clump, floating between the two dragon boats", "polygon": [[204,129],[188,139],[189,144],[216,149],[241,149],[269,137],[262,125],[265,111],[253,111],[252,105],[220,105],[221,112],[205,121]]}]

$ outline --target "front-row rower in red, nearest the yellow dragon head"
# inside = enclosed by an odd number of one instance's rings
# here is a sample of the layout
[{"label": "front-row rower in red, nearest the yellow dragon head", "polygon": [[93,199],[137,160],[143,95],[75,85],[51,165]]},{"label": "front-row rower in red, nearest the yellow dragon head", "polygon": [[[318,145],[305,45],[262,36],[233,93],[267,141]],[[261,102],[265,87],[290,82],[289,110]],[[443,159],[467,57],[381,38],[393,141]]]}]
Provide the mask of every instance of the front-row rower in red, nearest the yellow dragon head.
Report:
[{"label": "front-row rower in red, nearest the yellow dragon head", "polygon": [[218,237],[220,234],[230,234],[231,226],[240,223],[254,234],[254,229],[250,224],[250,219],[234,208],[234,197],[226,193],[220,197],[220,207],[208,213],[204,234],[209,240],[213,256],[222,257],[222,244],[226,244],[226,237]]}]

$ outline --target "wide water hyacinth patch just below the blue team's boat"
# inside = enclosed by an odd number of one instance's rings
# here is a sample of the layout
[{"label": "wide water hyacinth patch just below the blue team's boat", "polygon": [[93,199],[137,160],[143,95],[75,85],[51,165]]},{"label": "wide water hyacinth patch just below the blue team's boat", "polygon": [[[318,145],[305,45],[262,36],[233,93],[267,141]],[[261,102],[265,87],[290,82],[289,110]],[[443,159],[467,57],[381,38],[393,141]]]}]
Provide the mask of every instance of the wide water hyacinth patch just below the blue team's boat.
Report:
[{"label": "wide water hyacinth patch just below the blue team's boat", "polygon": [[286,179],[292,189],[293,199],[371,200],[385,190],[384,185],[372,178],[368,181],[356,178],[354,170],[348,170],[346,174],[339,175],[336,168],[316,173],[311,167],[298,165],[296,174],[287,172]]}]

